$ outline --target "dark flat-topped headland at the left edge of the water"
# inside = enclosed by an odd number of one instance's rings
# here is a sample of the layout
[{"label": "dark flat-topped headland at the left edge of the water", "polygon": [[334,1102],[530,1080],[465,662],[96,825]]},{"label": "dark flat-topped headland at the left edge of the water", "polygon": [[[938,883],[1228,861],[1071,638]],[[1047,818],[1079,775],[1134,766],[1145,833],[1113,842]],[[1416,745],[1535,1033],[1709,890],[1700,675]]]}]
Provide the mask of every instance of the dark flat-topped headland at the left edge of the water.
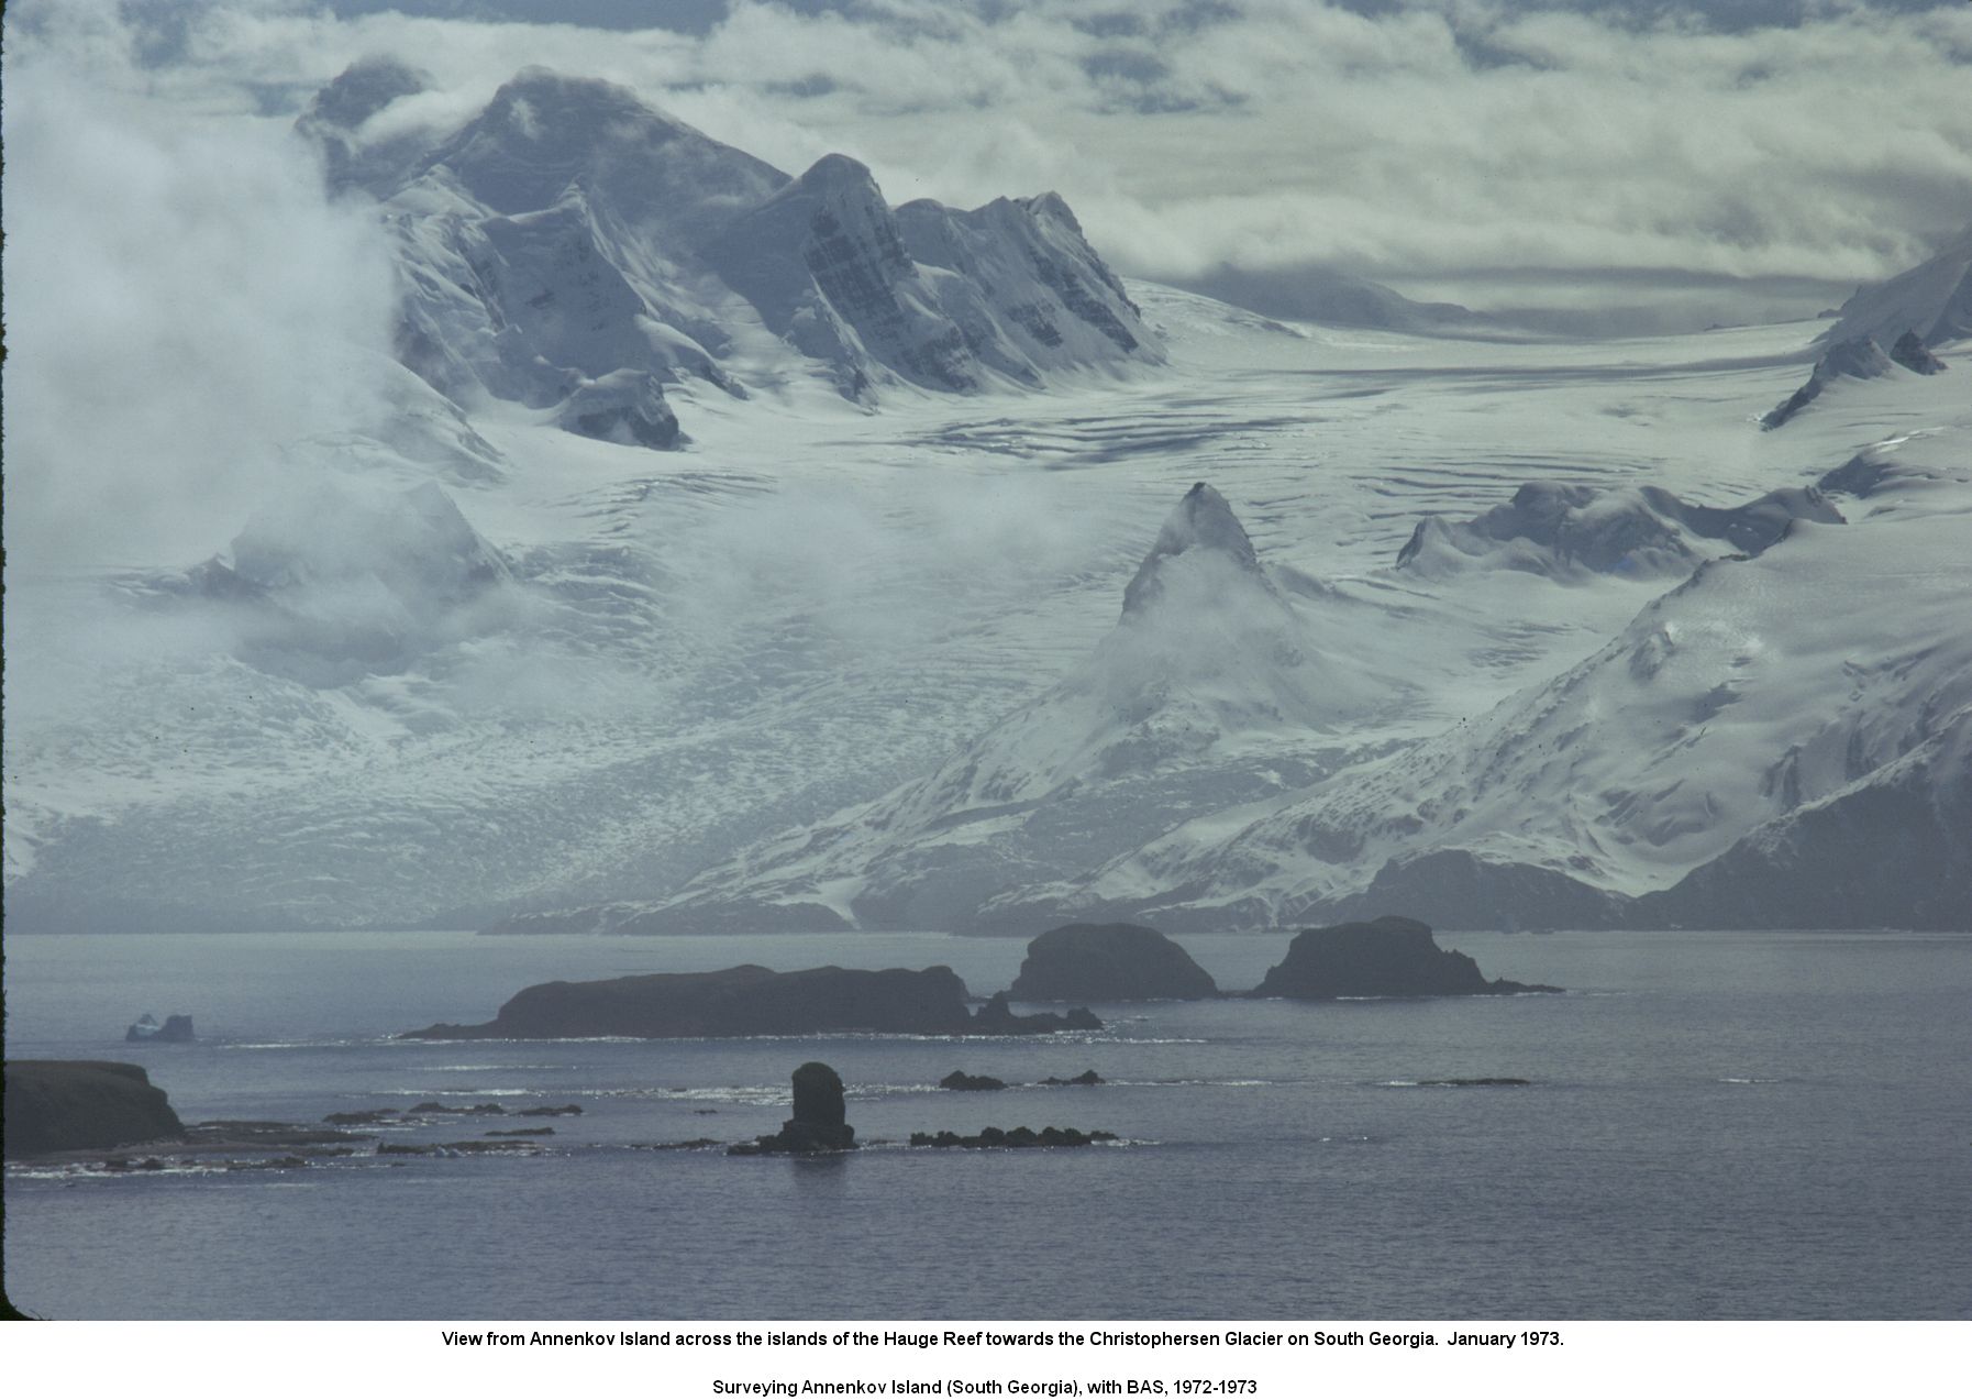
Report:
[{"label": "dark flat-topped headland at the left edge of the water", "polygon": [[6,1155],[105,1152],[183,1140],[185,1124],[142,1065],[97,1059],[6,1061]]}]

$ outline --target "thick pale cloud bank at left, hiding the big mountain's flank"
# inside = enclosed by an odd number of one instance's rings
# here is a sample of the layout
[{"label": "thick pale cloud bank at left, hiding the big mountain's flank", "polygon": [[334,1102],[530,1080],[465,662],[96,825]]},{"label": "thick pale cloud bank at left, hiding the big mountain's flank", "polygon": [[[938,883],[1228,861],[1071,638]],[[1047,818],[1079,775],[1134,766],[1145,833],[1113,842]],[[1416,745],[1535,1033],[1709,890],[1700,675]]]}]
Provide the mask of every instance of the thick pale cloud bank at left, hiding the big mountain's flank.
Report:
[{"label": "thick pale cloud bank at left, hiding the big mountain's flank", "polygon": [[381,412],[388,349],[381,233],[288,122],[162,101],[63,18],[8,45],[10,580],[217,550],[284,442]]}]

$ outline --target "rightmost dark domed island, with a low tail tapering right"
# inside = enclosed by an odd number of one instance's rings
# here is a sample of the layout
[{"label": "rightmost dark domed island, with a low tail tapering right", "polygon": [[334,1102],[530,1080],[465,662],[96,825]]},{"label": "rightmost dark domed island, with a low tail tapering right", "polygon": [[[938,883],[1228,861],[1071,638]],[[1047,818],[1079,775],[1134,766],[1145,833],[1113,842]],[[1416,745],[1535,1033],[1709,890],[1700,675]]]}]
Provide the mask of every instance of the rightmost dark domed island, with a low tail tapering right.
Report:
[{"label": "rightmost dark domed island, with a low tail tapering right", "polygon": [[1321,1002],[1339,996],[1505,996],[1560,992],[1493,978],[1463,952],[1440,948],[1430,925],[1398,915],[1303,929],[1252,996]]}]

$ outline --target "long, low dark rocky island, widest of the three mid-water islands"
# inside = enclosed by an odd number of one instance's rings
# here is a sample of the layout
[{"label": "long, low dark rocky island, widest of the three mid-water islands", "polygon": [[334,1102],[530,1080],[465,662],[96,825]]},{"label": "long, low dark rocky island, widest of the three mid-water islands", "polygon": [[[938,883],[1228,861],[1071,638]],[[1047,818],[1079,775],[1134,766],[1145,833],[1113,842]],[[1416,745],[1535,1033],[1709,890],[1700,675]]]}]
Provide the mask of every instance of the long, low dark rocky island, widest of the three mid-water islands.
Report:
[{"label": "long, low dark rocky island, widest of the three mid-water islands", "polygon": [[1059,1029],[1102,1029],[1089,1012],[1014,1015],[1002,994],[974,1015],[966,984],[947,966],[807,968],[773,972],[763,966],[722,972],[653,972],[603,982],[542,982],[517,992],[481,1025],[428,1025],[400,1039],[637,1039],[824,1035],[876,1031],[887,1035],[1035,1035]]}]

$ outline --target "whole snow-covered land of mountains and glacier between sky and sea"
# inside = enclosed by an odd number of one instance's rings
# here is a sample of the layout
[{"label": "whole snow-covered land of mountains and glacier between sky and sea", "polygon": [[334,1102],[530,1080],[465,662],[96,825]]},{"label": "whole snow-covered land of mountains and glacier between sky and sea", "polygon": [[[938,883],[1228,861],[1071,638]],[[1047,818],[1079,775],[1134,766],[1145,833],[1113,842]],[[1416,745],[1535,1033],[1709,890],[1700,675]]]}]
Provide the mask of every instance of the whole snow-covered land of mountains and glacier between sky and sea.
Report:
[{"label": "whole snow-covered land of mountains and glacier between sky and sea", "polygon": [[12,929],[1972,927],[1972,229],[1832,329],[1290,325],[424,87],[298,122],[377,410],[10,570]]}]

